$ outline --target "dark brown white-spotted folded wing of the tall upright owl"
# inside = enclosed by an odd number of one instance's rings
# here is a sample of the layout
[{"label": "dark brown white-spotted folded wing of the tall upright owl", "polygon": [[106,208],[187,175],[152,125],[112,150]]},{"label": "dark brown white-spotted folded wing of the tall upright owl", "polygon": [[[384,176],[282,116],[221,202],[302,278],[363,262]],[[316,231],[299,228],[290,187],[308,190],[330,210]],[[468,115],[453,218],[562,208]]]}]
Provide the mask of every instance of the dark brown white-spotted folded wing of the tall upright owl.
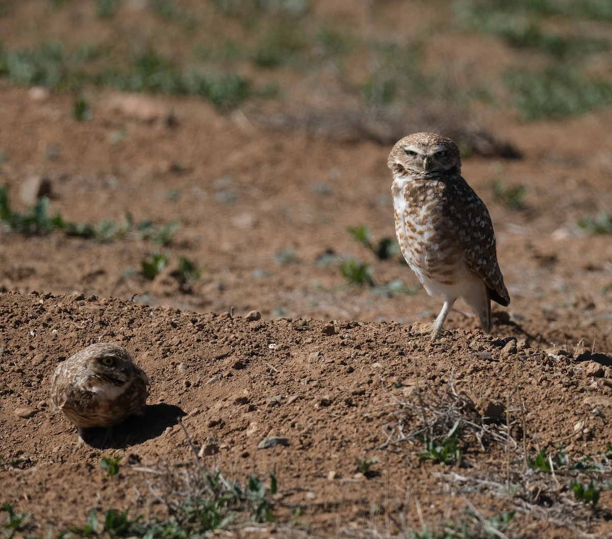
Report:
[{"label": "dark brown white-spotted folded wing of the tall upright owl", "polygon": [[[466,264],[485,282],[489,297],[507,307],[510,295],[499,269],[493,222],[487,206],[463,178],[452,186],[457,192],[448,198],[447,215],[465,253]],[[460,200],[461,207],[453,200]]]}]

